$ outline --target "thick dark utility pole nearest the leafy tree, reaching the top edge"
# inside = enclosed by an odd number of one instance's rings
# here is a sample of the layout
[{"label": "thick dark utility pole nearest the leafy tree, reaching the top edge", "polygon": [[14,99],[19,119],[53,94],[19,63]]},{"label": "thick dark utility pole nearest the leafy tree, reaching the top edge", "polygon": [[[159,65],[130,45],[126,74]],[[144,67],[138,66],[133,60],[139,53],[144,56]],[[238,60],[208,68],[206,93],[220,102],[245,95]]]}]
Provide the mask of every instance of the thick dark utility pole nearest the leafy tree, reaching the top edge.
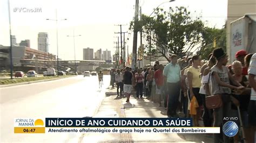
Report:
[{"label": "thick dark utility pole nearest the leafy tree, reaching the top edge", "polygon": [[[139,0],[136,0],[135,3],[135,13],[134,13],[134,27],[138,24],[138,16],[139,16]],[[137,38],[138,38],[138,30],[133,28],[133,45],[132,45],[132,70],[136,67],[137,62]]]}]

